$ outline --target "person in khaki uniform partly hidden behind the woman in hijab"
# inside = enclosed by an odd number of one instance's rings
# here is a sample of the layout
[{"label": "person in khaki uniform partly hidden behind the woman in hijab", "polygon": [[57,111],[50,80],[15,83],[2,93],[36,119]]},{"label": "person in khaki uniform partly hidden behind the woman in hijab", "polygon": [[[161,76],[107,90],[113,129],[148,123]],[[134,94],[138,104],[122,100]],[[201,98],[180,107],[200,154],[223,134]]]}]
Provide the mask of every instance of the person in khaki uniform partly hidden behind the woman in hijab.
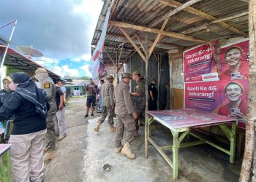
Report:
[{"label": "person in khaki uniform partly hidden behind the woman in hijab", "polygon": [[54,130],[54,122],[53,117],[56,114],[57,106],[56,106],[56,85],[53,83],[52,79],[50,79],[47,71],[44,68],[38,68],[35,71],[35,77],[41,84],[41,88],[45,90],[48,97],[48,103],[50,105],[50,110],[48,111],[48,115],[46,118],[47,124],[47,132],[45,135],[45,151],[47,152],[44,156],[44,162],[47,162],[54,157],[55,151],[55,141],[56,141],[56,133]]}]

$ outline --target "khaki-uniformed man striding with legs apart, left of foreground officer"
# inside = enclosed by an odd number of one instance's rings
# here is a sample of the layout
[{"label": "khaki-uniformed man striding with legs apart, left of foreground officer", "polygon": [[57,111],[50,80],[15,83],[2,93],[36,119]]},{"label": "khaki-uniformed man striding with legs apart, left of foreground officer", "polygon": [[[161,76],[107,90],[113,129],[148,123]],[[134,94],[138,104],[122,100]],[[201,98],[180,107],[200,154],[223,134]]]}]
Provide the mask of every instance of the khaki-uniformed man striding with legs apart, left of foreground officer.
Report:
[{"label": "khaki-uniformed man striding with legs apart, left of foreground officer", "polygon": [[116,132],[116,127],[114,127],[115,103],[113,100],[113,79],[114,77],[112,75],[108,75],[106,82],[101,86],[103,111],[96,126],[94,127],[95,132],[99,132],[100,124],[102,124],[105,121],[107,116],[108,124],[110,126],[110,132]]}]

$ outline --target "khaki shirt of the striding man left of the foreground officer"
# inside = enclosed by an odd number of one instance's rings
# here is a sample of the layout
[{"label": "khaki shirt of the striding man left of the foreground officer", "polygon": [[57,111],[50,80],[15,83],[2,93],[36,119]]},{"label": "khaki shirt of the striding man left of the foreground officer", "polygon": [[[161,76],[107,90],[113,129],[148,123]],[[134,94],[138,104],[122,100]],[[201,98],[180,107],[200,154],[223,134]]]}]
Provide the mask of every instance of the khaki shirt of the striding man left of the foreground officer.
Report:
[{"label": "khaki shirt of the striding man left of the foreground officer", "polygon": [[114,92],[114,86],[112,83],[110,83],[108,80],[102,84],[102,106],[106,106],[107,108],[114,106],[114,100],[113,100],[113,92]]}]

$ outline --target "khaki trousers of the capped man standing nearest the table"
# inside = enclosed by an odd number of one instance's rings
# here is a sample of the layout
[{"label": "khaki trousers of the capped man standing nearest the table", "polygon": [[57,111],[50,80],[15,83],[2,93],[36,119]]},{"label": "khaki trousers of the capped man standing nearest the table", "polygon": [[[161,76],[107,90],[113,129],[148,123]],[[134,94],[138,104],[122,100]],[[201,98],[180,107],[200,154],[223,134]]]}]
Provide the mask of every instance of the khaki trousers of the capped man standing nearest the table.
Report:
[{"label": "khaki trousers of the capped man standing nearest the table", "polygon": [[127,129],[126,142],[131,144],[135,134],[135,120],[133,120],[130,114],[120,116],[116,114],[117,123],[116,123],[116,148],[121,146],[121,140],[124,135],[124,127]]}]

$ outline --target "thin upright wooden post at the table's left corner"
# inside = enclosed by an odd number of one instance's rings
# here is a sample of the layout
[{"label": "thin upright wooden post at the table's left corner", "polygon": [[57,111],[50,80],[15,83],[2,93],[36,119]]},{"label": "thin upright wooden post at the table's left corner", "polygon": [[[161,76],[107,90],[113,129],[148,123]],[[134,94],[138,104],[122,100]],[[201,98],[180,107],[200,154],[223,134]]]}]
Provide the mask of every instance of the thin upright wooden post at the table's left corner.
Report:
[{"label": "thin upright wooden post at the table's left corner", "polygon": [[145,157],[148,157],[148,34],[145,37],[145,84],[146,84],[146,107],[145,107]]}]

